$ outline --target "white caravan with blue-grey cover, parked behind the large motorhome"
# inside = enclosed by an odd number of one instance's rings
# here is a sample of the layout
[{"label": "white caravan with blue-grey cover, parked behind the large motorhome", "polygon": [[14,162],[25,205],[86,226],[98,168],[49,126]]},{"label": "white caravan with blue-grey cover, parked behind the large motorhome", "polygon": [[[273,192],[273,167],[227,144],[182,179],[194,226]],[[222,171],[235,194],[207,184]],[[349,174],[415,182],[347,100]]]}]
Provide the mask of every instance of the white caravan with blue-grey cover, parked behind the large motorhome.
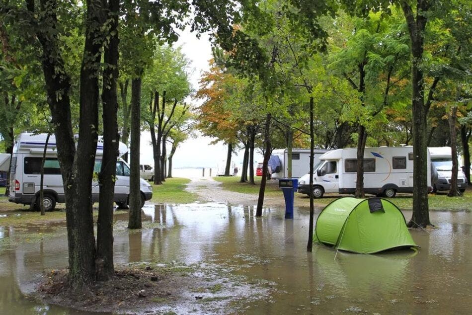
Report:
[{"label": "white caravan with blue-grey cover, parked behind the large motorhome", "polygon": [[[329,150],[315,149],[313,161],[318,163],[319,157]],[[286,178],[289,174],[288,149],[277,149],[272,151],[269,160],[271,178]],[[272,164],[272,165],[271,165]],[[299,178],[310,171],[310,149],[292,149],[292,177]]]}]

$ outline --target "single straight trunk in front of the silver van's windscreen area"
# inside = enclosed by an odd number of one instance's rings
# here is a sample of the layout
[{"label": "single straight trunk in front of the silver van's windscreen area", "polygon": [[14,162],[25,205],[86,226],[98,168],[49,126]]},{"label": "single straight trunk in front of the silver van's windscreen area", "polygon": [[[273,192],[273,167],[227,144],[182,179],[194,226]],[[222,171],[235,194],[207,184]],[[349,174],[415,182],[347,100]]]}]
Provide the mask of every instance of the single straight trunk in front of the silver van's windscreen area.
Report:
[{"label": "single straight trunk in front of the silver van's windscreen area", "polygon": [[[128,229],[141,229],[141,192],[139,153],[141,138],[141,76],[131,81],[131,145],[130,145],[130,218]],[[160,175],[160,174],[159,174]]]}]

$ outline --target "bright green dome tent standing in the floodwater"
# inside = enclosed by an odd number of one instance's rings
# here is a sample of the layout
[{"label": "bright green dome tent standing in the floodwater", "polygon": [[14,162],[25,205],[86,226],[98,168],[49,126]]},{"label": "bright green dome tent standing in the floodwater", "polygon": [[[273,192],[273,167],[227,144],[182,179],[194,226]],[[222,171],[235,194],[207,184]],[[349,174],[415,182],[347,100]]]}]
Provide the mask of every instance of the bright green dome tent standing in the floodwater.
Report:
[{"label": "bright green dome tent standing in the floodwater", "polygon": [[381,198],[339,198],[316,220],[315,241],[337,249],[372,254],[397,247],[419,247],[393,203]]}]

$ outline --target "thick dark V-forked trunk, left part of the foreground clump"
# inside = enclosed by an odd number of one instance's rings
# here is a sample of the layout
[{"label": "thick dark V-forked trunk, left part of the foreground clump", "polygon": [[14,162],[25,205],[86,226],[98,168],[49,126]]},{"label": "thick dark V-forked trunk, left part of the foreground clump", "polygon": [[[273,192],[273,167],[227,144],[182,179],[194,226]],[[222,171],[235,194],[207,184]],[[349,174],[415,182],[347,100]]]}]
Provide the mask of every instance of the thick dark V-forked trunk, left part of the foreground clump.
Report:
[{"label": "thick dark V-forked trunk, left part of the foreground clump", "polygon": [[[35,2],[26,1],[27,9],[35,12]],[[57,28],[57,2],[41,6],[41,22],[49,29]],[[69,246],[69,283],[73,290],[88,286],[95,278],[95,237],[93,234],[91,182],[98,130],[98,73],[102,34],[101,1],[87,1],[85,44],[80,67],[79,141],[76,146],[72,130],[71,80],[64,67],[57,34],[37,28],[42,46],[42,68],[48,104],[55,128],[58,159],[66,195],[66,224]],[[61,97],[58,97],[60,95]]]}]

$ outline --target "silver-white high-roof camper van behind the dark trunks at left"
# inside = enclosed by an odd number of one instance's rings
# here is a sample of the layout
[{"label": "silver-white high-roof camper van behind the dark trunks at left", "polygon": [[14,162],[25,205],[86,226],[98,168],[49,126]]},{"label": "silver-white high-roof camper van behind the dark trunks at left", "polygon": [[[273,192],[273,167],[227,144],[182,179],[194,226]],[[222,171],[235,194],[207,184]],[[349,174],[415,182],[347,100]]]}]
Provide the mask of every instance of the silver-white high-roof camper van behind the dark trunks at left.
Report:
[{"label": "silver-white high-roof camper van behind the dark trunks at left", "polygon": [[[37,208],[41,180],[41,162],[43,159],[44,146],[46,145],[46,134],[33,135],[29,133],[20,134],[13,147],[10,161],[10,190],[8,201],[31,205]],[[120,143],[120,155],[128,151],[125,144]],[[100,138],[97,145],[94,172],[99,172],[103,145]],[[130,168],[125,161],[118,159],[116,162],[115,202],[119,207],[126,207],[130,193]],[[64,186],[61,169],[57,159],[56,137],[49,138],[44,163],[44,206],[45,210],[51,211],[56,202],[65,202]],[[150,200],[153,196],[151,185],[141,179],[141,203]],[[92,201],[97,202],[99,187],[97,182],[92,183]]]}]

